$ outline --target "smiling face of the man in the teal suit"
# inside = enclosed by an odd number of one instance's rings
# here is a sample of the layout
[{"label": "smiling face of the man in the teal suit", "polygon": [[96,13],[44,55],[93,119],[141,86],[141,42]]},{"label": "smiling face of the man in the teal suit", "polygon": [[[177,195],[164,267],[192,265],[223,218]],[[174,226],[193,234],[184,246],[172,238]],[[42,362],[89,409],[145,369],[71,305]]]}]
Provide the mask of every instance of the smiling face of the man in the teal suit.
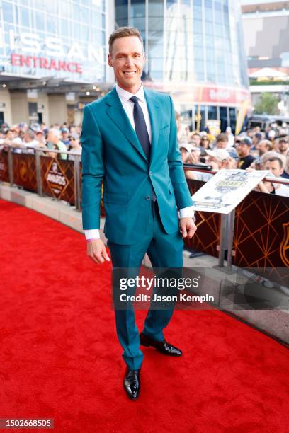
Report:
[{"label": "smiling face of the man in the teal suit", "polygon": [[118,86],[130,93],[140,88],[145,53],[137,36],[118,37],[108,54],[108,64],[113,67]]}]

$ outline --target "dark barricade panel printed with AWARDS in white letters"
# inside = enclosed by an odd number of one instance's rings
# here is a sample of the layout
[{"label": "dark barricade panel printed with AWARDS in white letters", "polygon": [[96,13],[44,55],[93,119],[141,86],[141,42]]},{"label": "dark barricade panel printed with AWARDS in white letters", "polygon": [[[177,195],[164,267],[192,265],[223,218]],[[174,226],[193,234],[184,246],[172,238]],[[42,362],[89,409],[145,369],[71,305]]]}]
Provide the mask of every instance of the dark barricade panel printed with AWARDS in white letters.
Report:
[{"label": "dark barricade panel printed with AWARDS in white letters", "polygon": [[40,156],[42,193],[75,204],[74,161]]}]

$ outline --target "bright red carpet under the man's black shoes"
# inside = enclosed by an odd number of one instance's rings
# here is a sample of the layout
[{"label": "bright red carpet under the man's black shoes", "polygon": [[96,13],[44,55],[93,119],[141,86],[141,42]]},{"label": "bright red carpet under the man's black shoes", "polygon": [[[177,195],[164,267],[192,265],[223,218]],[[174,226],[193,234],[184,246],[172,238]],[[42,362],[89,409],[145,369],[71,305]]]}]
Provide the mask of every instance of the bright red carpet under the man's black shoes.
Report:
[{"label": "bright red carpet under the man's black shoes", "polygon": [[0,418],[52,417],[57,433],[288,432],[288,350],[220,311],[176,311],[166,337],[183,357],[144,349],[128,400],[110,265],[25,207],[0,200],[0,224]]}]

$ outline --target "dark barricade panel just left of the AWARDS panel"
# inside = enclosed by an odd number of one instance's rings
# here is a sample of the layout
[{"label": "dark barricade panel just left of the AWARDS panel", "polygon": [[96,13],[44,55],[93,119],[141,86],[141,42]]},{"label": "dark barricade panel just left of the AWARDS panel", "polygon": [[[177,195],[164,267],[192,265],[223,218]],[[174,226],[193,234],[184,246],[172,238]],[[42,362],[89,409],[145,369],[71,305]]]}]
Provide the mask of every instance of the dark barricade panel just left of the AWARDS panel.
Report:
[{"label": "dark barricade panel just left of the AWARDS panel", "polygon": [[13,154],[13,183],[25,190],[37,191],[35,155]]}]

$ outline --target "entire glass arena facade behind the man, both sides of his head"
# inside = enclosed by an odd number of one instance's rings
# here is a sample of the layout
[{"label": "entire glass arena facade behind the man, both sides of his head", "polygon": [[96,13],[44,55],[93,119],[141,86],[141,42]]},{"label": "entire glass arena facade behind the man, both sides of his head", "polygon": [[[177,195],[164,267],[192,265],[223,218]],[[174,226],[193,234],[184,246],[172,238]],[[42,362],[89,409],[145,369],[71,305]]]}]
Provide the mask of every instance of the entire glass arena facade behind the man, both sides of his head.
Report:
[{"label": "entire glass arena facade behind the man, both sides of his head", "polygon": [[114,85],[108,35],[144,39],[145,86],[171,93],[191,129],[234,129],[249,99],[239,0],[0,0],[0,122],[81,122]]}]

